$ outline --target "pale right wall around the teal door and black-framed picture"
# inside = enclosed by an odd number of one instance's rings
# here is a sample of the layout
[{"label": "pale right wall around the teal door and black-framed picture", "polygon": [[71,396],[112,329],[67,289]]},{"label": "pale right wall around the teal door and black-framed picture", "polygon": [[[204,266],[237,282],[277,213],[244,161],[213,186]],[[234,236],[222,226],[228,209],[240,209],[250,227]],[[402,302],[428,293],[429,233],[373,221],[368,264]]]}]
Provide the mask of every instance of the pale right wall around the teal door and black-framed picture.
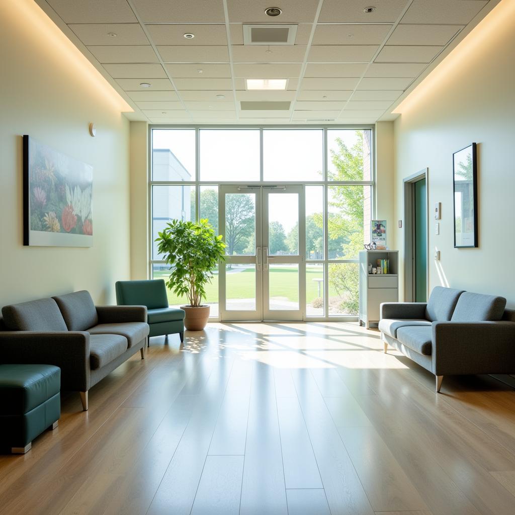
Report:
[{"label": "pale right wall around the teal door and black-framed picture", "polygon": [[[394,123],[393,221],[403,218],[403,178],[422,168],[429,168],[430,209],[442,203],[439,235],[430,215],[430,290],[448,284],[502,295],[510,307],[515,307],[514,34],[515,2],[503,0],[404,101]],[[455,249],[452,154],[472,142],[478,158],[479,248]],[[400,250],[402,231],[394,226]],[[440,262],[432,258],[435,247]]]}]

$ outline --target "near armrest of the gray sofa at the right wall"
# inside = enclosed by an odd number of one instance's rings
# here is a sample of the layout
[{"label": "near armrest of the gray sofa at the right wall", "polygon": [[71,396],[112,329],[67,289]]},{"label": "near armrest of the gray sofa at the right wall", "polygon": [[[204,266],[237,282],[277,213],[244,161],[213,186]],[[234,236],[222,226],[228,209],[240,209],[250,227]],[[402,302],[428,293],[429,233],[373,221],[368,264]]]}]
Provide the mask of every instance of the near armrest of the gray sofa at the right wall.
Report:
[{"label": "near armrest of the gray sofa at the right wall", "polygon": [[514,322],[433,322],[433,373],[515,373]]}]

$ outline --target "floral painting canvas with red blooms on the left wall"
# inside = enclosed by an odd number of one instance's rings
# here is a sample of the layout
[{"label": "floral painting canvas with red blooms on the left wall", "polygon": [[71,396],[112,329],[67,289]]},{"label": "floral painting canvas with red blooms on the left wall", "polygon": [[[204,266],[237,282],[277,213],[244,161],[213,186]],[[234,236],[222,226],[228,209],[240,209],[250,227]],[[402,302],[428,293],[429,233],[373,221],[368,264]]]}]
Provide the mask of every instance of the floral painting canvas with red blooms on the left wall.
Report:
[{"label": "floral painting canvas with red blooms on the left wall", "polygon": [[93,167],[23,136],[24,245],[93,245]]}]

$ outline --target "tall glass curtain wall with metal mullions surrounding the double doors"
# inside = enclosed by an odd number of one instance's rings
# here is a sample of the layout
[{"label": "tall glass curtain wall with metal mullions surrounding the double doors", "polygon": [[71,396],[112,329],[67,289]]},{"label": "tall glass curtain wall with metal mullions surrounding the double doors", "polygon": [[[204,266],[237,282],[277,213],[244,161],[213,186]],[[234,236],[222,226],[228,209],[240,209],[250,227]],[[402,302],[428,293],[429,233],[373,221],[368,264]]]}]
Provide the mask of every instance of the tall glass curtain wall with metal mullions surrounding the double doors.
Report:
[{"label": "tall glass curtain wall with metal mullions surrounding the double doors", "polygon": [[[300,184],[305,193],[304,318],[356,317],[358,251],[370,241],[373,218],[372,142],[371,127],[151,127],[150,277],[167,279],[169,274],[154,243],[168,221],[207,218],[215,232],[221,232],[218,227],[220,185]],[[232,217],[234,228],[224,236],[231,239],[227,243],[238,254],[245,254],[246,249],[252,253],[254,245],[250,241],[254,228],[249,224],[250,220],[251,225],[255,224],[255,220],[246,216],[245,205],[245,202],[226,205],[226,217]],[[287,205],[277,206],[274,212],[277,216],[270,225],[273,254],[298,252],[297,218],[291,216]],[[282,278],[281,284],[274,283],[277,295],[285,297],[291,290],[295,297],[297,290],[287,284],[288,278],[294,278],[295,274],[287,273],[287,265],[277,266],[281,269],[270,270]],[[252,270],[242,271],[249,273],[234,274],[238,281],[227,285],[228,302],[238,299],[244,302],[254,296],[255,292],[250,291],[255,287],[250,280]],[[250,279],[245,281],[247,276]],[[211,305],[214,319],[218,318],[218,292],[218,270],[215,270],[204,299]],[[168,299],[170,305],[185,302],[171,292]]]}]

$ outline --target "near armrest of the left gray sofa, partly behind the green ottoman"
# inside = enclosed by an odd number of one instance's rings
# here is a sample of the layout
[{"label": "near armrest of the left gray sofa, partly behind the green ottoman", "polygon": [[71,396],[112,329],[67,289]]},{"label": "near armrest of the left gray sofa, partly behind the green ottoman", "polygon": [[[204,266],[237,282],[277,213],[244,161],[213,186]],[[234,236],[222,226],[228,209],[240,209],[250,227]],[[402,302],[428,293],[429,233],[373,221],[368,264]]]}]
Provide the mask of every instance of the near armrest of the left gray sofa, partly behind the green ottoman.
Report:
[{"label": "near armrest of the left gray sofa, partly behind the green ottoman", "polygon": [[82,331],[1,331],[2,363],[55,365],[63,390],[90,388],[90,334]]}]

